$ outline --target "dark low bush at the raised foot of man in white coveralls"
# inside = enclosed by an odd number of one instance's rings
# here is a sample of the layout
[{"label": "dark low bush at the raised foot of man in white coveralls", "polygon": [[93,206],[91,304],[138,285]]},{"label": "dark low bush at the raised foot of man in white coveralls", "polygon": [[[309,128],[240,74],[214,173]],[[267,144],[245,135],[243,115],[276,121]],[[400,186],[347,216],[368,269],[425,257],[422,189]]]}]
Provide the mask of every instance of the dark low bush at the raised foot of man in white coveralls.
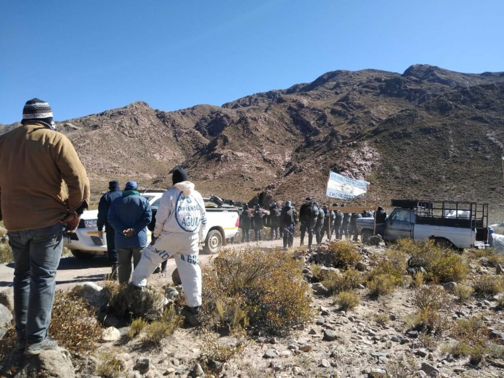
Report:
[{"label": "dark low bush at the raised foot of man in white coveralls", "polygon": [[163,317],[165,297],[152,287],[139,290],[132,283],[120,285],[108,281],[103,290],[106,290],[109,307],[114,314],[127,321],[143,318],[148,322],[160,320]]}]

